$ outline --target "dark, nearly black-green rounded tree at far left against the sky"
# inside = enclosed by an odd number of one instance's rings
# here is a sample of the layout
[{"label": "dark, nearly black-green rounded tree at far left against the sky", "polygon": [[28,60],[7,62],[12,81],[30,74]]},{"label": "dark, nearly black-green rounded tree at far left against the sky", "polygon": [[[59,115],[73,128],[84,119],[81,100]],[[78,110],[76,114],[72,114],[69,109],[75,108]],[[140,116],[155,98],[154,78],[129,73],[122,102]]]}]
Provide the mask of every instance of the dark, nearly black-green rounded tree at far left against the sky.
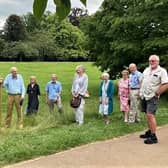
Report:
[{"label": "dark, nearly black-green rounded tree at far left against the sky", "polygon": [[4,38],[7,41],[19,41],[26,38],[26,28],[20,16],[8,17],[4,26]]}]

